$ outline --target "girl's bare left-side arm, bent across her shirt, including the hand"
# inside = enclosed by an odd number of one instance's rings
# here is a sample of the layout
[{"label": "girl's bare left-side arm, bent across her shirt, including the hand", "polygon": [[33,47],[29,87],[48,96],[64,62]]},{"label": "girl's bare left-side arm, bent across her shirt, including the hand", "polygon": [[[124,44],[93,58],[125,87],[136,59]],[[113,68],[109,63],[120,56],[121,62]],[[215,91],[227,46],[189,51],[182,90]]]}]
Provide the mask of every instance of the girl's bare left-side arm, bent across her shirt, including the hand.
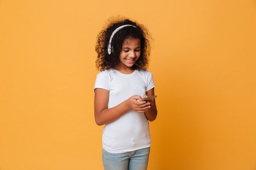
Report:
[{"label": "girl's bare left-side arm, bent across her shirt, including the hand", "polygon": [[149,108],[148,103],[137,101],[137,99],[141,99],[139,95],[134,95],[113,108],[108,108],[108,97],[108,90],[103,88],[95,89],[94,117],[96,124],[99,126],[115,121],[130,109],[143,113]]}]

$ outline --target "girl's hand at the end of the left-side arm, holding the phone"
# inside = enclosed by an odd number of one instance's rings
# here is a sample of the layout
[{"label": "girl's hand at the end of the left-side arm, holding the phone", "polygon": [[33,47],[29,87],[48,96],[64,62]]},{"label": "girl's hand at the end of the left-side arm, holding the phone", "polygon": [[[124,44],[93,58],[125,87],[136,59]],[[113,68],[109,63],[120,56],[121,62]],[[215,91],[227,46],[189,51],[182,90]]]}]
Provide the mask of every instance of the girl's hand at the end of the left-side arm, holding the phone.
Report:
[{"label": "girl's hand at the end of the left-side arm, holding the phone", "polygon": [[142,99],[141,96],[134,95],[129,99],[127,99],[128,106],[130,109],[135,110],[136,112],[139,112],[139,113],[143,113],[151,107],[150,102],[146,102],[146,101],[140,102],[140,101],[137,101],[138,99],[141,100]]}]

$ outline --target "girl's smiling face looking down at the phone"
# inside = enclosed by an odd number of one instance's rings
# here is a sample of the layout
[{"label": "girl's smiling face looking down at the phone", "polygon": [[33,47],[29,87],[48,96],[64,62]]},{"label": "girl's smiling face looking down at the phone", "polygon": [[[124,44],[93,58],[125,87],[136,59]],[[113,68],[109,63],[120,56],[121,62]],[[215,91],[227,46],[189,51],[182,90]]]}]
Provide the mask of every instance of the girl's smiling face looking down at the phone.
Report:
[{"label": "girl's smiling face looking down at the phone", "polygon": [[141,52],[140,39],[128,38],[122,44],[121,53],[119,56],[120,63],[118,70],[129,70],[138,60]]}]

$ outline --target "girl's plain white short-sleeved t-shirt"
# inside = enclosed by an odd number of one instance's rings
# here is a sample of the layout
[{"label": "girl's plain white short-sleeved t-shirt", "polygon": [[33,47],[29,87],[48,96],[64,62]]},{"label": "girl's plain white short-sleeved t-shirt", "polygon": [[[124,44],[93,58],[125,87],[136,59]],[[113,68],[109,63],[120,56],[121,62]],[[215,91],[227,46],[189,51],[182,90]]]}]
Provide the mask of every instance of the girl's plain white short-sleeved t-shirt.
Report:
[{"label": "girl's plain white short-sleeved t-shirt", "polygon": [[[147,70],[135,70],[123,74],[115,69],[98,73],[95,88],[109,91],[108,108],[124,102],[133,95],[144,95],[155,87],[152,73]],[[103,128],[103,149],[110,153],[124,153],[150,147],[148,119],[144,113],[129,110],[117,120]]]}]

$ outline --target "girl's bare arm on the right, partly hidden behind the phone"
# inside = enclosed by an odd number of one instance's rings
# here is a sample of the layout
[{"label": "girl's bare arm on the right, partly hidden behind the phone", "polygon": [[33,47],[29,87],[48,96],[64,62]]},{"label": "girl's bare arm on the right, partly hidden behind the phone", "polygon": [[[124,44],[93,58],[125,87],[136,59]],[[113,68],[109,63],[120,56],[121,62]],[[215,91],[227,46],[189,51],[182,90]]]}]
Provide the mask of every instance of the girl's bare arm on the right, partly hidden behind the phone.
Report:
[{"label": "girl's bare arm on the right, partly hidden behind the phone", "polygon": [[[146,92],[147,96],[155,95],[155,88],[150,89]],[[150,103],[150,108],[145,111],[145,116],[149,121],[154,121],[157,118],[157,106],[155,104],[155,99],[153,101],[147,102]]]}]

